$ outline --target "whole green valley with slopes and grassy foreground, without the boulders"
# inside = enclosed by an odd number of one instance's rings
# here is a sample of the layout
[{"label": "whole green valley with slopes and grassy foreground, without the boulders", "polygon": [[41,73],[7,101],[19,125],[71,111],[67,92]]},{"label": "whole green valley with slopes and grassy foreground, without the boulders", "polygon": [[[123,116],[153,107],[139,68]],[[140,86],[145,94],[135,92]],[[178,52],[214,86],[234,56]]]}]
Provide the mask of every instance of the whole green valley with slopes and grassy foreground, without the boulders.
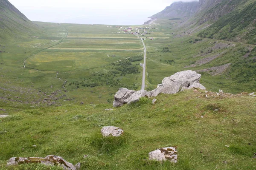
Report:
[{"label": "whole green valley with slopes and grassy foreground, without the boulders", "polygon": [[[0,169],[13,170],[11,157],[52,154],[81,170],[255,169],[254,8],[253,0],[177,2],[145,25],[115,26],[32,22],[0,0],[0,116],[8,115]],[[207,90],[113,107],[119,88],[151,91],[185,70]],[[124,133],[102,137],[103,126]],[[148,159],[169,146],[177,164]]]}]

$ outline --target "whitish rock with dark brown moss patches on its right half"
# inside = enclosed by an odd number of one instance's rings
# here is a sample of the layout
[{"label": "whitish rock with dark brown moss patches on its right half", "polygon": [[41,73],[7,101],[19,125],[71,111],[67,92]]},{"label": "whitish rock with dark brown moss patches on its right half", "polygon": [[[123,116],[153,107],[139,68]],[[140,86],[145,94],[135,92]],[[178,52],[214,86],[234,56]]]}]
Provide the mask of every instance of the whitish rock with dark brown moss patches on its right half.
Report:
[{"label": "whitish rock with dark brown moss patches on its right half", "polygon": [[177,149],[175,147],[163,147],[148,153],[148,155],[150,160],[177,163]]}]

